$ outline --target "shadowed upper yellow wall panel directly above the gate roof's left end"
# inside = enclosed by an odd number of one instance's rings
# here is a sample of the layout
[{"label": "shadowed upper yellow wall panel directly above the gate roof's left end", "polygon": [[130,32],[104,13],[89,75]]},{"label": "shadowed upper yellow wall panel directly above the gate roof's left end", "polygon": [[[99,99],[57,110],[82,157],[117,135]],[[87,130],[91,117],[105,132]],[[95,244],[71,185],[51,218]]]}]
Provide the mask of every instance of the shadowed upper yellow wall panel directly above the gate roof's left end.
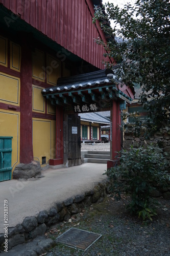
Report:
[{"label": "shadowed upper yellow wall panel directly above the gate roof's left end", "polygon": [[57,80],[61,77],[61,62],[50,55],[47,55],[47,83],[56,86]]}]

